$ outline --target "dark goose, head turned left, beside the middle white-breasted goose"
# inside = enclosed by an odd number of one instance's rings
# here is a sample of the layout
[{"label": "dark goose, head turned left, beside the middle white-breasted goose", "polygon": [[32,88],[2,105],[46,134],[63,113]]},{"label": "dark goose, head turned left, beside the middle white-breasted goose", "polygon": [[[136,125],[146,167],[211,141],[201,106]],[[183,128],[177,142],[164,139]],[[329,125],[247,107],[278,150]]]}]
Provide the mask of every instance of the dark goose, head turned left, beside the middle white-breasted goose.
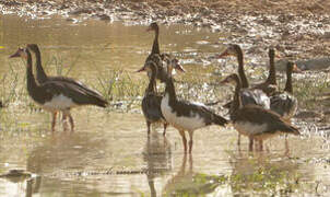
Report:
[{"label": "dark goose, head turned left, beside the middle white-breasted goose", "polygon": [[155,91],[156,89],[156,73],[157,73],[157,67],[153,61],[149,61],[149,63],[144,65],[144,67],[140,71],[149,71],[151,70],[151,79],[148,85],[148,89],[145,90],[144,97],[142,100],[142,112],[146,121],[148,127],[148,136],[150,135],[150,126],[152,123],[163,121],[164,123],[164,131],[163,135],[166,134],[167,123],[165,118],[163,117],[162,111],[161,111],[161,102],[162,102],[162,95],[158,95]]}]

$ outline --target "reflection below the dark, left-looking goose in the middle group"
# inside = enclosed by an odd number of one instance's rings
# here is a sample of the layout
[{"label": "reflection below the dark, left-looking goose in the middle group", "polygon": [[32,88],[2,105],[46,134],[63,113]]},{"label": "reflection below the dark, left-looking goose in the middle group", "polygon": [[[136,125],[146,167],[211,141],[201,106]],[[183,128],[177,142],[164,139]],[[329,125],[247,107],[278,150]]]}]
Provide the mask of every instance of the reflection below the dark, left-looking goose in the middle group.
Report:
[{"label": "reflection below the dark, left-looking goose in the middle group", "polygon": [[143,151],[143,161],[146,163],[146,178],[151,196],[155,197],[157,196],[155,178],[173,170],[173,155],[166,137],[155,131],[151,134]]}]

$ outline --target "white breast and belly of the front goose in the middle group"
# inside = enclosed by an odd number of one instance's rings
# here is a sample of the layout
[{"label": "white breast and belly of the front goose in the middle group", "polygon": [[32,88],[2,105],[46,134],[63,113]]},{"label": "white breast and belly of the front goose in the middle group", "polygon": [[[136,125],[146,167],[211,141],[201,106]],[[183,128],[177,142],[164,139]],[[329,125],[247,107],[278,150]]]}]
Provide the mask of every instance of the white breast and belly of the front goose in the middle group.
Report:
[{"label": "white breast and belly of the front goose in the middle group", "polygon": [[168,97],[169,96],[166,93],[165,96],[163,97],[162,104],[161,104],[162,114],[165,117],[165,119],[167,120],[167,123],[169,123],[170,125],[173,125],[174,127],[176,127],[179,130],[196,130],[198,128],[205,126],[203,118],[192,112],[189,115],[189,117],[187,117],[187,116],[178,117],[177,113],[172,112],[172,108],[168,104],[169,103]]}]

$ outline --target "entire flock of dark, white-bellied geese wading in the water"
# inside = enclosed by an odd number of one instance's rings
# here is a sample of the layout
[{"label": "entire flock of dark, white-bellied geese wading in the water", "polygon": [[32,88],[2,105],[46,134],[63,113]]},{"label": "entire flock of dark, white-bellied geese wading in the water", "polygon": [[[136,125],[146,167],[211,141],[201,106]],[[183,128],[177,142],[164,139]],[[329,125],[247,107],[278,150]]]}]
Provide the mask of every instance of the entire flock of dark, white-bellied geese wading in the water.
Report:
[{"label": "entire flock of dark, white-bellied geese wading in the water", "polygon": [[[292,72],[296,66],[288,61],[286,68],[286,85],[283,91],[278,90],[275,78],[273,48],[269,49],[270,72],[268,79],[260,84],[249,86],[244,71],[244,55],[239,45],[228,45],[219,58],[235,56],[238,61],[238,74],[226,77],[221,83],[233,83],[234,99],[224,107],[229,111],[226,118],[210,111],[202,104],[180,101],[177,99],[173,69],[185,72],[178,59],[168,54],[161,54],[158,45],[158,25],[151,23],[148,31],[155,33],[152,51],[144,66],[138,72],[146,71],[150,82],[142,100],[142,112],[145,117],[148,136],[153,123],[163,123],[164,132],[168,125],[175,127],[182,139],[185,153],[192,151],[193,131],[209,126],[225,126],[232,123],[238,131],[237,143],[240,144],[240,135],[249,138],[249,151],[254,150],[254,142],[259,142],[259,150],[263,149],[263,140],[280,134],[299,135],[297,128],[291,125],[290,119],[297,109],[297,100],[293,95]],[[33,74],[32,54],[36,58],[36,78]],[[97,92],[86,85],[67,77],[48,77],[42,66],[39,48],[36,44],[27,44],[19,48],[11,58],[21,57],[26,60],[27,92],[33,101],[45,111],[52,114],[51,130],[55,130],[57,114],[62,113],[63,127],[69,118],[71,130],[74,129],[73,117],[70,109],[81,105],[96,105],[106,107],[107,101]],[[158,93],[156,80],[166,84],[165,92]],[[189,135],[189,141],[186,138]],[[188,146],[187,146],[188,143]]]}]

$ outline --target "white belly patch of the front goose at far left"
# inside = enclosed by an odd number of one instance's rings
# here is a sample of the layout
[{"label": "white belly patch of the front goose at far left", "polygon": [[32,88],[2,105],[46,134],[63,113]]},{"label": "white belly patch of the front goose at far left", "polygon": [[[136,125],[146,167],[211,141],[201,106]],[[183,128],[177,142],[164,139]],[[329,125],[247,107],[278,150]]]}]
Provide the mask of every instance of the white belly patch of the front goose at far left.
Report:
[{"label": "white belly patch of the front goose at far left", "polygon": [[52,97],[51,101],[46,102],[43,107],[48,111],[64,111],[74,106],[78,105],[73,103],[72,99],[59,94]]}]

